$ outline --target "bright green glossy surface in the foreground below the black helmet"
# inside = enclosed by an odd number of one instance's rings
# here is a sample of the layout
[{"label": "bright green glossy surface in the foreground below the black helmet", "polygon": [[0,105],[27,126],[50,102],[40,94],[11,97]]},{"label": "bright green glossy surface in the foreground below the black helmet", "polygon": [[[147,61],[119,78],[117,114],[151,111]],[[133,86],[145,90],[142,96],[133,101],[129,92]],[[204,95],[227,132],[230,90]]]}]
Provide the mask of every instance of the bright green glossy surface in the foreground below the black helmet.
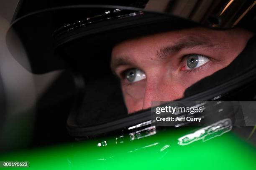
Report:
[{"label": "bright green glossy surface in the foreground below the black helmet", "polygon": [[[179,145],[192,128],[162,130],[146,138],[101,138],[0,156],[1,161],[29,161],[26,170],[204,169],[255,170],[256,148],[233,132]],[[107,144],[98,146],[98,143]],[[3,168],[20,169],[20,168]]]}]

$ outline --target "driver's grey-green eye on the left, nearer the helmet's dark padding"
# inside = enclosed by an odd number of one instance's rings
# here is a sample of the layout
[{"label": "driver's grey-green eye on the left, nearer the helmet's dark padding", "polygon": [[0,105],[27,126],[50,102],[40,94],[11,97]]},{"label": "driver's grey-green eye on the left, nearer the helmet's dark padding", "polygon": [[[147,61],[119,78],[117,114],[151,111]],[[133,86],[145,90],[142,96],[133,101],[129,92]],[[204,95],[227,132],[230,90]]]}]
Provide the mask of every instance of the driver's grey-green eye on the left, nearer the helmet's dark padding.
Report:
[{"label": "driver's grey-green eye on the left, nearer the helmet's dark padding", "polygon": [[146,78],[146,73],[137,68],[125,70],[122,74],[124,79],[128,80],[130,83],[138,82]]}]

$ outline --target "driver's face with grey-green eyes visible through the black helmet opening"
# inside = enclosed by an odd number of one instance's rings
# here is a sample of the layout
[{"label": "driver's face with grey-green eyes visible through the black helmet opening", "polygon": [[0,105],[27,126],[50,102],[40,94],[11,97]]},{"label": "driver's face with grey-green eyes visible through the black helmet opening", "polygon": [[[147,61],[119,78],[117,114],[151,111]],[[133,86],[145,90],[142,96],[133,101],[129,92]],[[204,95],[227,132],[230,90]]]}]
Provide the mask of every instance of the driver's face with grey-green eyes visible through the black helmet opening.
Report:
[{"label": "driver's face with grey-green eyes visible through the black helmet opening", "polygon": [[192,28],[115,45],[111,68],[120,77],[128,113],[183,97],[187,87],[229,65],[251,36],[242,29]]}]

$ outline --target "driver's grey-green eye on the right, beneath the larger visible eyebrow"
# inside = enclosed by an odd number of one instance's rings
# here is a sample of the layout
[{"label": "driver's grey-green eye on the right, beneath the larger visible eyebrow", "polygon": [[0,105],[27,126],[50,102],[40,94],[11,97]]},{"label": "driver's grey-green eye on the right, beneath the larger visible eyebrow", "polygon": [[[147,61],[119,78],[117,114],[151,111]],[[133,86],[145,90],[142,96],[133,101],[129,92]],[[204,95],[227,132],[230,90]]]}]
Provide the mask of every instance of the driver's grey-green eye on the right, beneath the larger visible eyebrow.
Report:
[{"label": "driver's grey-green eye on the right, beneath the larger visible eyebrow", "polygon": [[184,70],[193,70],[209,62],[209,57],[200,54],[190,54],[185,57],[186,65]]}]

